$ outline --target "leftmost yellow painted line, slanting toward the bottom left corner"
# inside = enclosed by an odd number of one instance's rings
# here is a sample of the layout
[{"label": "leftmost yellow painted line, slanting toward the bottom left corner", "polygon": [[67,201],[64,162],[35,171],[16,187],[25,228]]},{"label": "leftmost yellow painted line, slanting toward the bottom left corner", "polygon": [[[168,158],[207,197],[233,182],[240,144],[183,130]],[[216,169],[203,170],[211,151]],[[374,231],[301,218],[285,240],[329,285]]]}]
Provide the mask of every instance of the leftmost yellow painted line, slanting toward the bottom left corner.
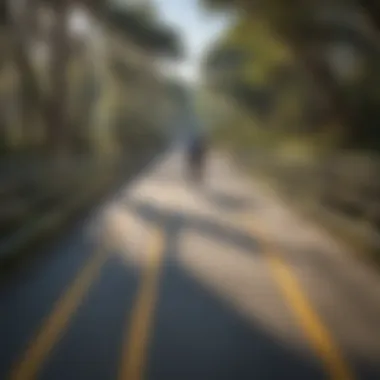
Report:
[{"label": "leftmost yellow painted line, slanting toward the bottom left corner", "polygon": [[33,380],[38,377],[42,365],[63,336],[65,328],[100,272],[106,257],[105,253],[99,250],[85,264],[68,290],[58,299],[24,355],[16,362],[10,373],[10,380]]}]

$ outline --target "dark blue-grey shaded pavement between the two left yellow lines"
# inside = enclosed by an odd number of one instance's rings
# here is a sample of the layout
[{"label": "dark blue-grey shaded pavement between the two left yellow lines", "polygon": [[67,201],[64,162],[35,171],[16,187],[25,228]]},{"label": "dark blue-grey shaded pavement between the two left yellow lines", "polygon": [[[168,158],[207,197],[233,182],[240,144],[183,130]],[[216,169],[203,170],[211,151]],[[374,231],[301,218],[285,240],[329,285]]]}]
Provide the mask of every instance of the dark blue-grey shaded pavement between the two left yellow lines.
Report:
[{"label": "dark blue-grey shaded pavement between the two left yellow lines", "polygon": [[115,253],[51,353],[41,380],[118,378],[139,273]]}]

